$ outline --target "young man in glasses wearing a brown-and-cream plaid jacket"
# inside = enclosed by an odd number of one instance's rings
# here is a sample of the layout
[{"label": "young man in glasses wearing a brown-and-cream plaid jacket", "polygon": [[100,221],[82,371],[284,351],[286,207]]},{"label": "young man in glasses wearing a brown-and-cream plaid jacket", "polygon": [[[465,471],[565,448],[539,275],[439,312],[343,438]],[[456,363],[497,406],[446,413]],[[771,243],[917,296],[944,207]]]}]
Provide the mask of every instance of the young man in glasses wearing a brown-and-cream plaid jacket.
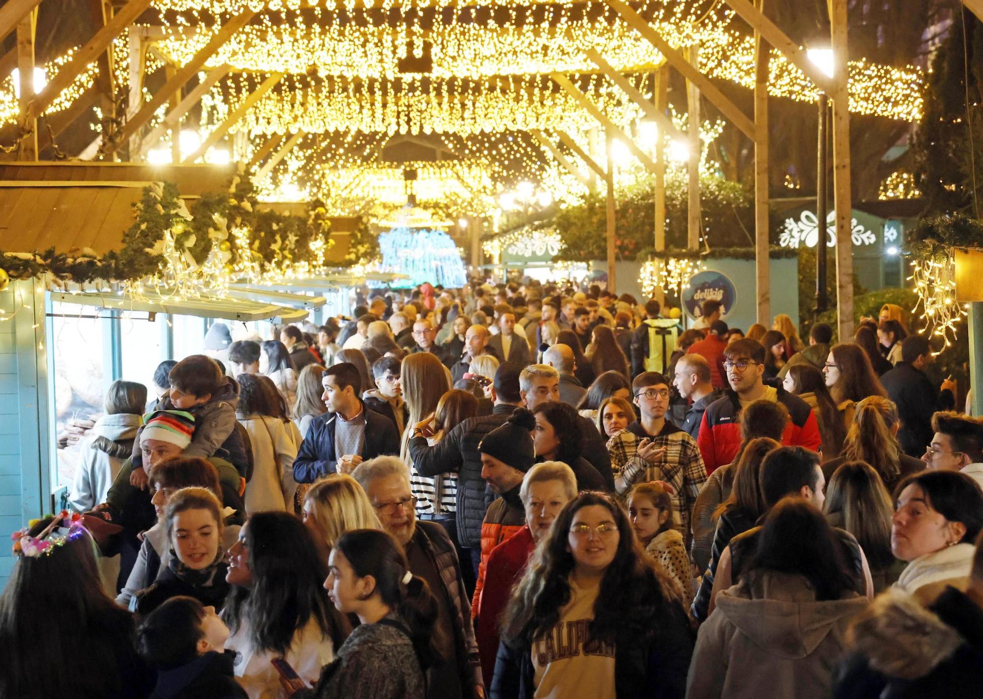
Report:
[{"label": "young man in glasses wearing a brown-and-cream plaid jacket", "polygon": [[657,371],[645,371],[632,382],[639,419],[607,442],[614,471],[614,489],[622,497],[636,483],[662,480],[671,486],[672,504],[678,513],[673,523],[686,548],[690,540],[690,516],[696,496],[707,480],[696,440],[665,419],[669,384]]}]

